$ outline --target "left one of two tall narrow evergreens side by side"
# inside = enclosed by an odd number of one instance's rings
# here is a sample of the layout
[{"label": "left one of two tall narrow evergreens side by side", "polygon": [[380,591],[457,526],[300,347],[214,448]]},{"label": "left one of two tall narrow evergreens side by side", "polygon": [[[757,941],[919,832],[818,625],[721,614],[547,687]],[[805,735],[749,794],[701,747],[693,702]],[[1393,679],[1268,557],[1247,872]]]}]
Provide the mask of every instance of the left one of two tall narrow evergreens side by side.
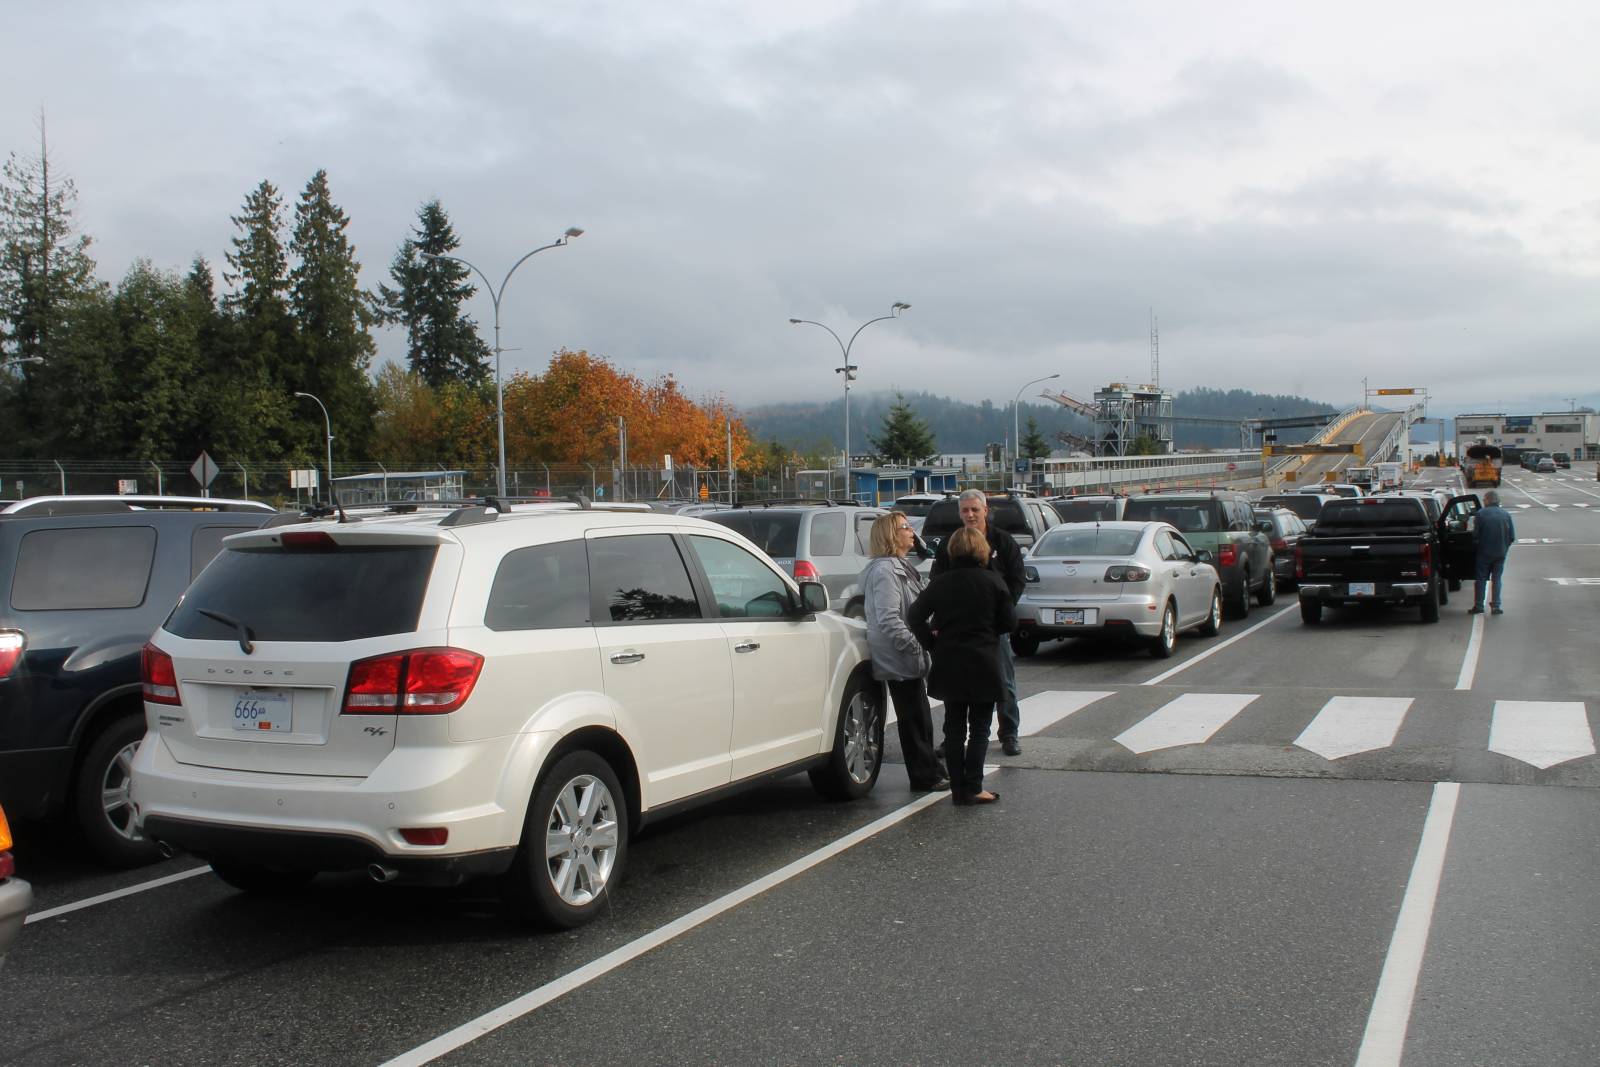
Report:
[{"label": "left one of two tall narrow evergreens side by side", "polygon": [[222,298],[227,328],[218,360],[222,392],[216,397],[214,446],[240,458],[277,459],[285,440],[302,445],[288,426],[290,403],[301,402],[285,382],[304,374],[286,298],[283,200],[272,182],[256,186],[232,222],[238,235],[222,272],[234,291]]}]

